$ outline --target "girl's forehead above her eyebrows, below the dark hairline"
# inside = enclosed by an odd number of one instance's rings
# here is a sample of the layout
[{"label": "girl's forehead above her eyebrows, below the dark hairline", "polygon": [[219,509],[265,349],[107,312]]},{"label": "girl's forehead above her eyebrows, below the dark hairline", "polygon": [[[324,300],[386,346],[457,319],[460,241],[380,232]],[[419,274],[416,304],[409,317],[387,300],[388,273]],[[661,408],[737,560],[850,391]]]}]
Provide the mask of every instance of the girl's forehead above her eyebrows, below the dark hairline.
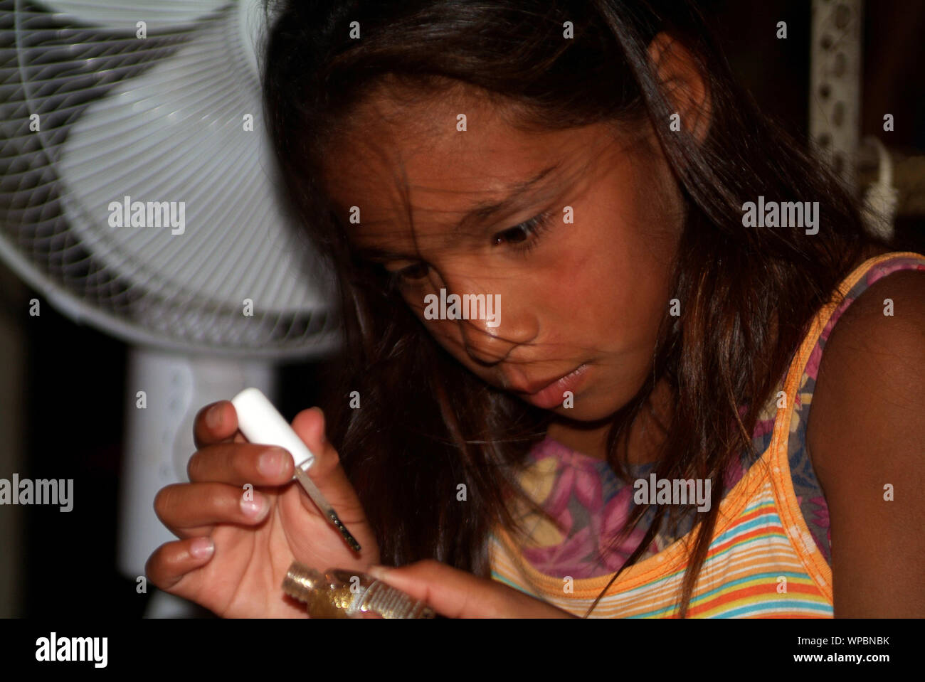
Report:
[{"label": "girl's forehead above her eyebrows, below the dark hairline", "polygon": [[475,205],[505,199],[550,166],[536,189],[561,186],[601,143],[598,126],[527,130],[517,120],[512,107],[466,86],[436,97],[392,89],[368,97],[325,159],[327,191],[341,215],[360,208],[351,238],[401,241],[409,210],[418,240],[444,233]]}]

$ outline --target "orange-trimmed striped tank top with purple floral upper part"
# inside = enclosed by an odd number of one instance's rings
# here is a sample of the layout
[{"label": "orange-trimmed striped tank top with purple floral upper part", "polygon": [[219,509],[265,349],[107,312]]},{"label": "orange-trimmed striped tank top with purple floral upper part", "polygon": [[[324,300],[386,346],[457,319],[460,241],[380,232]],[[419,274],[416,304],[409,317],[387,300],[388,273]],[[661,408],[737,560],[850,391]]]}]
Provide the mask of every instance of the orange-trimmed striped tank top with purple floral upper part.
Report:
[{"label": "orange-trimmed striped tank top with purple floral upper part", "polygon": [[[809,407],[835,323],[867,287],[900,270],[925,270],[925,256],[891,252],[861,263],[813,319],[759,415],[754,454],[728,472],[690,617],[833,616],[828,507],[806,446]],[[647,478],[648,469],[635,467],[631,476]],[[648,527],[644,518],[621,546],[604,542],[622,528],[635,489],[606,462],[549,437],[531,450],[520,481],[558,525],[524,511],[522,542],[496,528],[488,538],[491,577],[584,616]],[[676,617],[696,516],[666,524],[589,617]]]}]

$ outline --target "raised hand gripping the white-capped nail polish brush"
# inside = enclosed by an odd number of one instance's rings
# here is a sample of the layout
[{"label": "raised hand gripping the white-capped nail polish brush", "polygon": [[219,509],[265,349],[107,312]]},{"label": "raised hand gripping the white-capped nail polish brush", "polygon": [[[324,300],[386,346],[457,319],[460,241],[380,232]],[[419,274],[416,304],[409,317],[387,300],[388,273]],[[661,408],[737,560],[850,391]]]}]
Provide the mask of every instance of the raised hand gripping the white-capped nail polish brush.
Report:
[{"label": "raised hand gripping the white-capped nail polish brush", "polygon": [[[193,439],[199,449],[188,465],[191,482],[168,485],[154,499],[157,517],[180,538],[148,559],[145,573],[154,585],[222,617],[306,617],[304,604],[281,589],[292,561],[321,571],[364,570],[379,561],[360,500],[325,438],[323,412],[302,410],[292,428],[316,457],[309,477],[360,542],[361,553],[351,550],[292,481],[292,457],[284,452],[278,459],[262,458],[269,446],[248,443],[238,431],[234,406],[222,400],[196,415]],[[267,464],[272,466],[262,468]],[[253,484],[253,514],[245,510],[245,483]],[[201,547],[205,553],[194,554]]]}]

